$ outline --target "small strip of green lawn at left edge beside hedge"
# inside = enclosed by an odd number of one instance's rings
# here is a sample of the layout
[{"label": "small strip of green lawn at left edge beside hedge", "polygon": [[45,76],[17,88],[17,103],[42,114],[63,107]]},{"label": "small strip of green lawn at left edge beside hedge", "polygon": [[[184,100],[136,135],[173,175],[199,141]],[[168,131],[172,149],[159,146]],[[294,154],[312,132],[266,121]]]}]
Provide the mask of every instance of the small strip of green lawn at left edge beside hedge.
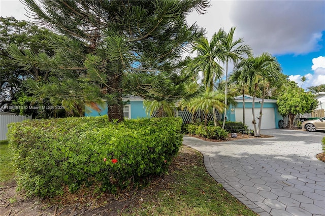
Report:
[{"label": "small strip of green lawn at left edge beside hedge", "polygon": [[8,141],[0,141],[0,183],[13,178],[14,169],[11,164],[11,152],[8,148]]}]

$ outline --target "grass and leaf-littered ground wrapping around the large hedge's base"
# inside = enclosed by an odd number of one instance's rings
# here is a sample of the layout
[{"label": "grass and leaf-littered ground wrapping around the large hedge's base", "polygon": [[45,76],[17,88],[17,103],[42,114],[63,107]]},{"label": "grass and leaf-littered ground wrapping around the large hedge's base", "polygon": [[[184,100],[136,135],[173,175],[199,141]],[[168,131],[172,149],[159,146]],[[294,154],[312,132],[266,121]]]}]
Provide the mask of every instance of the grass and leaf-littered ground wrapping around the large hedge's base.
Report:
[{"label": "grass and leaf-littered ground wrapping around the large hedge's base", "polygon": [[[1,185],[13,178],[14,171],[10,163],[8,142],[2,141]],[[12,187],[5,187],[3,190],[4,194],[8,193],[4,195],[8,202],[11,197],[16,197]],[[13,190],[13,194],[6,190]],[[76,212],[93,215],[257,215],[217,184],[207,173],[203,156],[186,146],[173,160],[168,174],[152,179],[151,184],[143,189],[122,191],[116,195],[102,193],[97,197],[91,191],[81,191],[54,200],[44,200],[39,206],[35,206],[34,199],[17,197],[17,202],[10,205],[11,209],[17,210],[24,206],[29,209],[29,213],[35,215],[40,211],[48,214],[57,211],[62,212],[62,215],[71,215],[71,206],[76,206]],[[53,202],[57,204],[53,205]]]}]

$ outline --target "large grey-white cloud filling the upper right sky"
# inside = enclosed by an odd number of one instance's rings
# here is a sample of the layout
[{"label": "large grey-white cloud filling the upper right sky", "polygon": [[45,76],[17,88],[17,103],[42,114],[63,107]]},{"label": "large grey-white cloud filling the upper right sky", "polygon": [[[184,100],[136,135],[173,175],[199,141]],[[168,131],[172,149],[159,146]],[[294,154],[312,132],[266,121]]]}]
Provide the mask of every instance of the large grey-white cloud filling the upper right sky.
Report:
[{"label": "large grey-white cloud filling the upper right sky", "polygon": [[196,12],[187,18],[197,21],[211,39],[220,27],[226,31],[237,26],[236,38],[243,38],[255,55],[305,54],[320,49],[325,26],[323,1],[211,1],[202,16]]}]

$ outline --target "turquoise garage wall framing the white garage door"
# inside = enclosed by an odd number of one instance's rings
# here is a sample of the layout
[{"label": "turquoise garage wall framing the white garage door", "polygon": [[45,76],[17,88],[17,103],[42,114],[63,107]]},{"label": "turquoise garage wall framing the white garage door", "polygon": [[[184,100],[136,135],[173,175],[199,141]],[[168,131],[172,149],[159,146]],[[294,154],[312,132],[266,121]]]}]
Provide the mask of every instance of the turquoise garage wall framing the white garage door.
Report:
[{"label": "turquoise garage wall framing the white garage door", "polygon": [[[252,104],[252,102],[245,102],[245,109],[252,109]],[[231,111],[232,108],[234,111]],[[229,109],[227,110],[228,121],[236,121],[235,108],[243,108],[243,102],[238,102],[236,106],[230,105]],[[255,108],[261,108],[261,103],[255,102]],[[278,129],[278,122],[283,119],[278,111],[278,105],[276,103],[264,102],[263,108],[274,108],[275,127]]]}]

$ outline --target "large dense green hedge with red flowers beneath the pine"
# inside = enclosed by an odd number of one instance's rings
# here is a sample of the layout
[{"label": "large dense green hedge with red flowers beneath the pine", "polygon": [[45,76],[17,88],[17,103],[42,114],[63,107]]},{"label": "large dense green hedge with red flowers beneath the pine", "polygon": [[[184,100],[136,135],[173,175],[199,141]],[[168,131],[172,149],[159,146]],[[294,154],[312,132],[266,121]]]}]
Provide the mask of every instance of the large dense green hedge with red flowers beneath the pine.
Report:
[{"label": "large dense green hedge with red flowers beneath the pine", "polygon": [[115,192],[167,171],[182,145],[180,118],[33,120],[9,126],[19,189],[40,197],[80,187]]}]

